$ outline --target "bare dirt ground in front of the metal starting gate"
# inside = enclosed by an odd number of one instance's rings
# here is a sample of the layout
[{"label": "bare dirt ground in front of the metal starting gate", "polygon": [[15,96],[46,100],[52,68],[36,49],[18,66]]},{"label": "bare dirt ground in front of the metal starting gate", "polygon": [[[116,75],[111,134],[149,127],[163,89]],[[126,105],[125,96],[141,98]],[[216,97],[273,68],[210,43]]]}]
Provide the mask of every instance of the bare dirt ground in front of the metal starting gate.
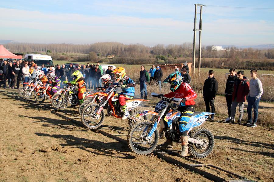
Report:
[{"label": "bare dirt ground in front of the metal starting gate", "polygon": [[[0,181],[209,181],[0,94]],[[3,117],[4,116],[4,117]]]}]

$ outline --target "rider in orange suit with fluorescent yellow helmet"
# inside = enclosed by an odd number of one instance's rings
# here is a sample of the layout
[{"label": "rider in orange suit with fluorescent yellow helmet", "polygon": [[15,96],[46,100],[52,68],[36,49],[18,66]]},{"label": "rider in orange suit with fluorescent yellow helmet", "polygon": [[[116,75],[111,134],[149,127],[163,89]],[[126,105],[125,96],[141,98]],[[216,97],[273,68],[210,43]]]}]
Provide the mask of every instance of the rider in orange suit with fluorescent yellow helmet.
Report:
[{"label": "rider in orange suit with fluorescent yellow helmet", "polygon": [[[71,74],[71,76],[73,76],[74,79],[69,83],[78,86],[78,99],[80,104],[82,104],[84,102],[83,98],[85,97],[86,92],[86,83],[83,79],[81,79],[83,74],[79,70],[76,70]],[[63,81],[63,83],[68,83],[68,81]]]}]

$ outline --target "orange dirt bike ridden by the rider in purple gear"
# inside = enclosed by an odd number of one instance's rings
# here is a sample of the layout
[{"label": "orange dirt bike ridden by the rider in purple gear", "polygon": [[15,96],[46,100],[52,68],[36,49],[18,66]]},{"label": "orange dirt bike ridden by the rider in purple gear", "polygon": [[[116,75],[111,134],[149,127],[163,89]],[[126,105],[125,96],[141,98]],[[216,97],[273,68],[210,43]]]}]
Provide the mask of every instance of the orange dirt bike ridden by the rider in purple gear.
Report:
[{"label": "orange dirt bike ridden by the rider in purple gear", "polygon": [[[47,83],[45,86],[41,86],[40,87],[40,91],[38,91],[37,93],[35,93],[34,99],[39,102],[39,103],[43,103],[45,101],[45,99],[51,99],[53,96],[53,92],[52,92],[52,86],[50,83]],[[62,89],[57,89],[56,93],[61,93]]]}]

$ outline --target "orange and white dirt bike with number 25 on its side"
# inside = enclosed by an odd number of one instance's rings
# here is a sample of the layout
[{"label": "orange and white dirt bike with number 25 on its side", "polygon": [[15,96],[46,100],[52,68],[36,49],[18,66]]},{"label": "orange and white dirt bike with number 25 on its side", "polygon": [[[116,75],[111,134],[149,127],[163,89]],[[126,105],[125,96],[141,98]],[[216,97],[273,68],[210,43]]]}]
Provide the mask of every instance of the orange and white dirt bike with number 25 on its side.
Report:
[{"label": "orange and white dirt bike with number 25 on its side", "polygon": [[[121,105],[118,101],[118,94],[115,93],[117,87],[120,87],[120,86],[111,85],[110,87],[107,88],[105,93],[98,93],[97,95],[104,96],[100,104],[91,103],[84,108],[83,113],[81,115],[81,120],[85,128],[97,129],[102,125],[105,117],[103,109],[107,109],[108,116],[122,118],[124,113],[121,110]],[[135,113],[132,114],[132,110],[138,107],[142,101],[149,101],[149,100],[144,100],[144,99],[126,100],[127,108],[130,114],[128,116],[129,123],[132,123],[133,121],[137,122],[140,120],[139,118],[134,117]]]}]

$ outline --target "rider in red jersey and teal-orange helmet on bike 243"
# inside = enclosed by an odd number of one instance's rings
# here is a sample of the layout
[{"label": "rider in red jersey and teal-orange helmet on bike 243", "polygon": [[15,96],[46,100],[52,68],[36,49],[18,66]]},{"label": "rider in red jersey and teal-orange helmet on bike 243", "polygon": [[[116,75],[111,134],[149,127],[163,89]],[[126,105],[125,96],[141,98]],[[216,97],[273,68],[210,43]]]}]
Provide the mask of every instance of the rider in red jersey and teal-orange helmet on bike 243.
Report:
[{"label": "rider in red jersey and teal-orange helmet on bike 243", "polygon": [[[194,112],[193,105],[195,104],[194,99],[196,99],[197,94],[191,88],[188,83],[183,83],[183,78],[179,71],[172,72],[163,83],[170,83],[170,90],[172,92],[168,94],[160,94],[158,97],[165,96],[167,98],[180,98],[181,103],[177,108],[181,111],[181,116],[179,119],[179,130],[181,133],[181,143],[182,143],[182,151],[180,156],[188,155],[188,129],[187,124]],[[173,143],[171,140],[167,139],[165,143],[159,145],[162,149],[173,149]]]}]

